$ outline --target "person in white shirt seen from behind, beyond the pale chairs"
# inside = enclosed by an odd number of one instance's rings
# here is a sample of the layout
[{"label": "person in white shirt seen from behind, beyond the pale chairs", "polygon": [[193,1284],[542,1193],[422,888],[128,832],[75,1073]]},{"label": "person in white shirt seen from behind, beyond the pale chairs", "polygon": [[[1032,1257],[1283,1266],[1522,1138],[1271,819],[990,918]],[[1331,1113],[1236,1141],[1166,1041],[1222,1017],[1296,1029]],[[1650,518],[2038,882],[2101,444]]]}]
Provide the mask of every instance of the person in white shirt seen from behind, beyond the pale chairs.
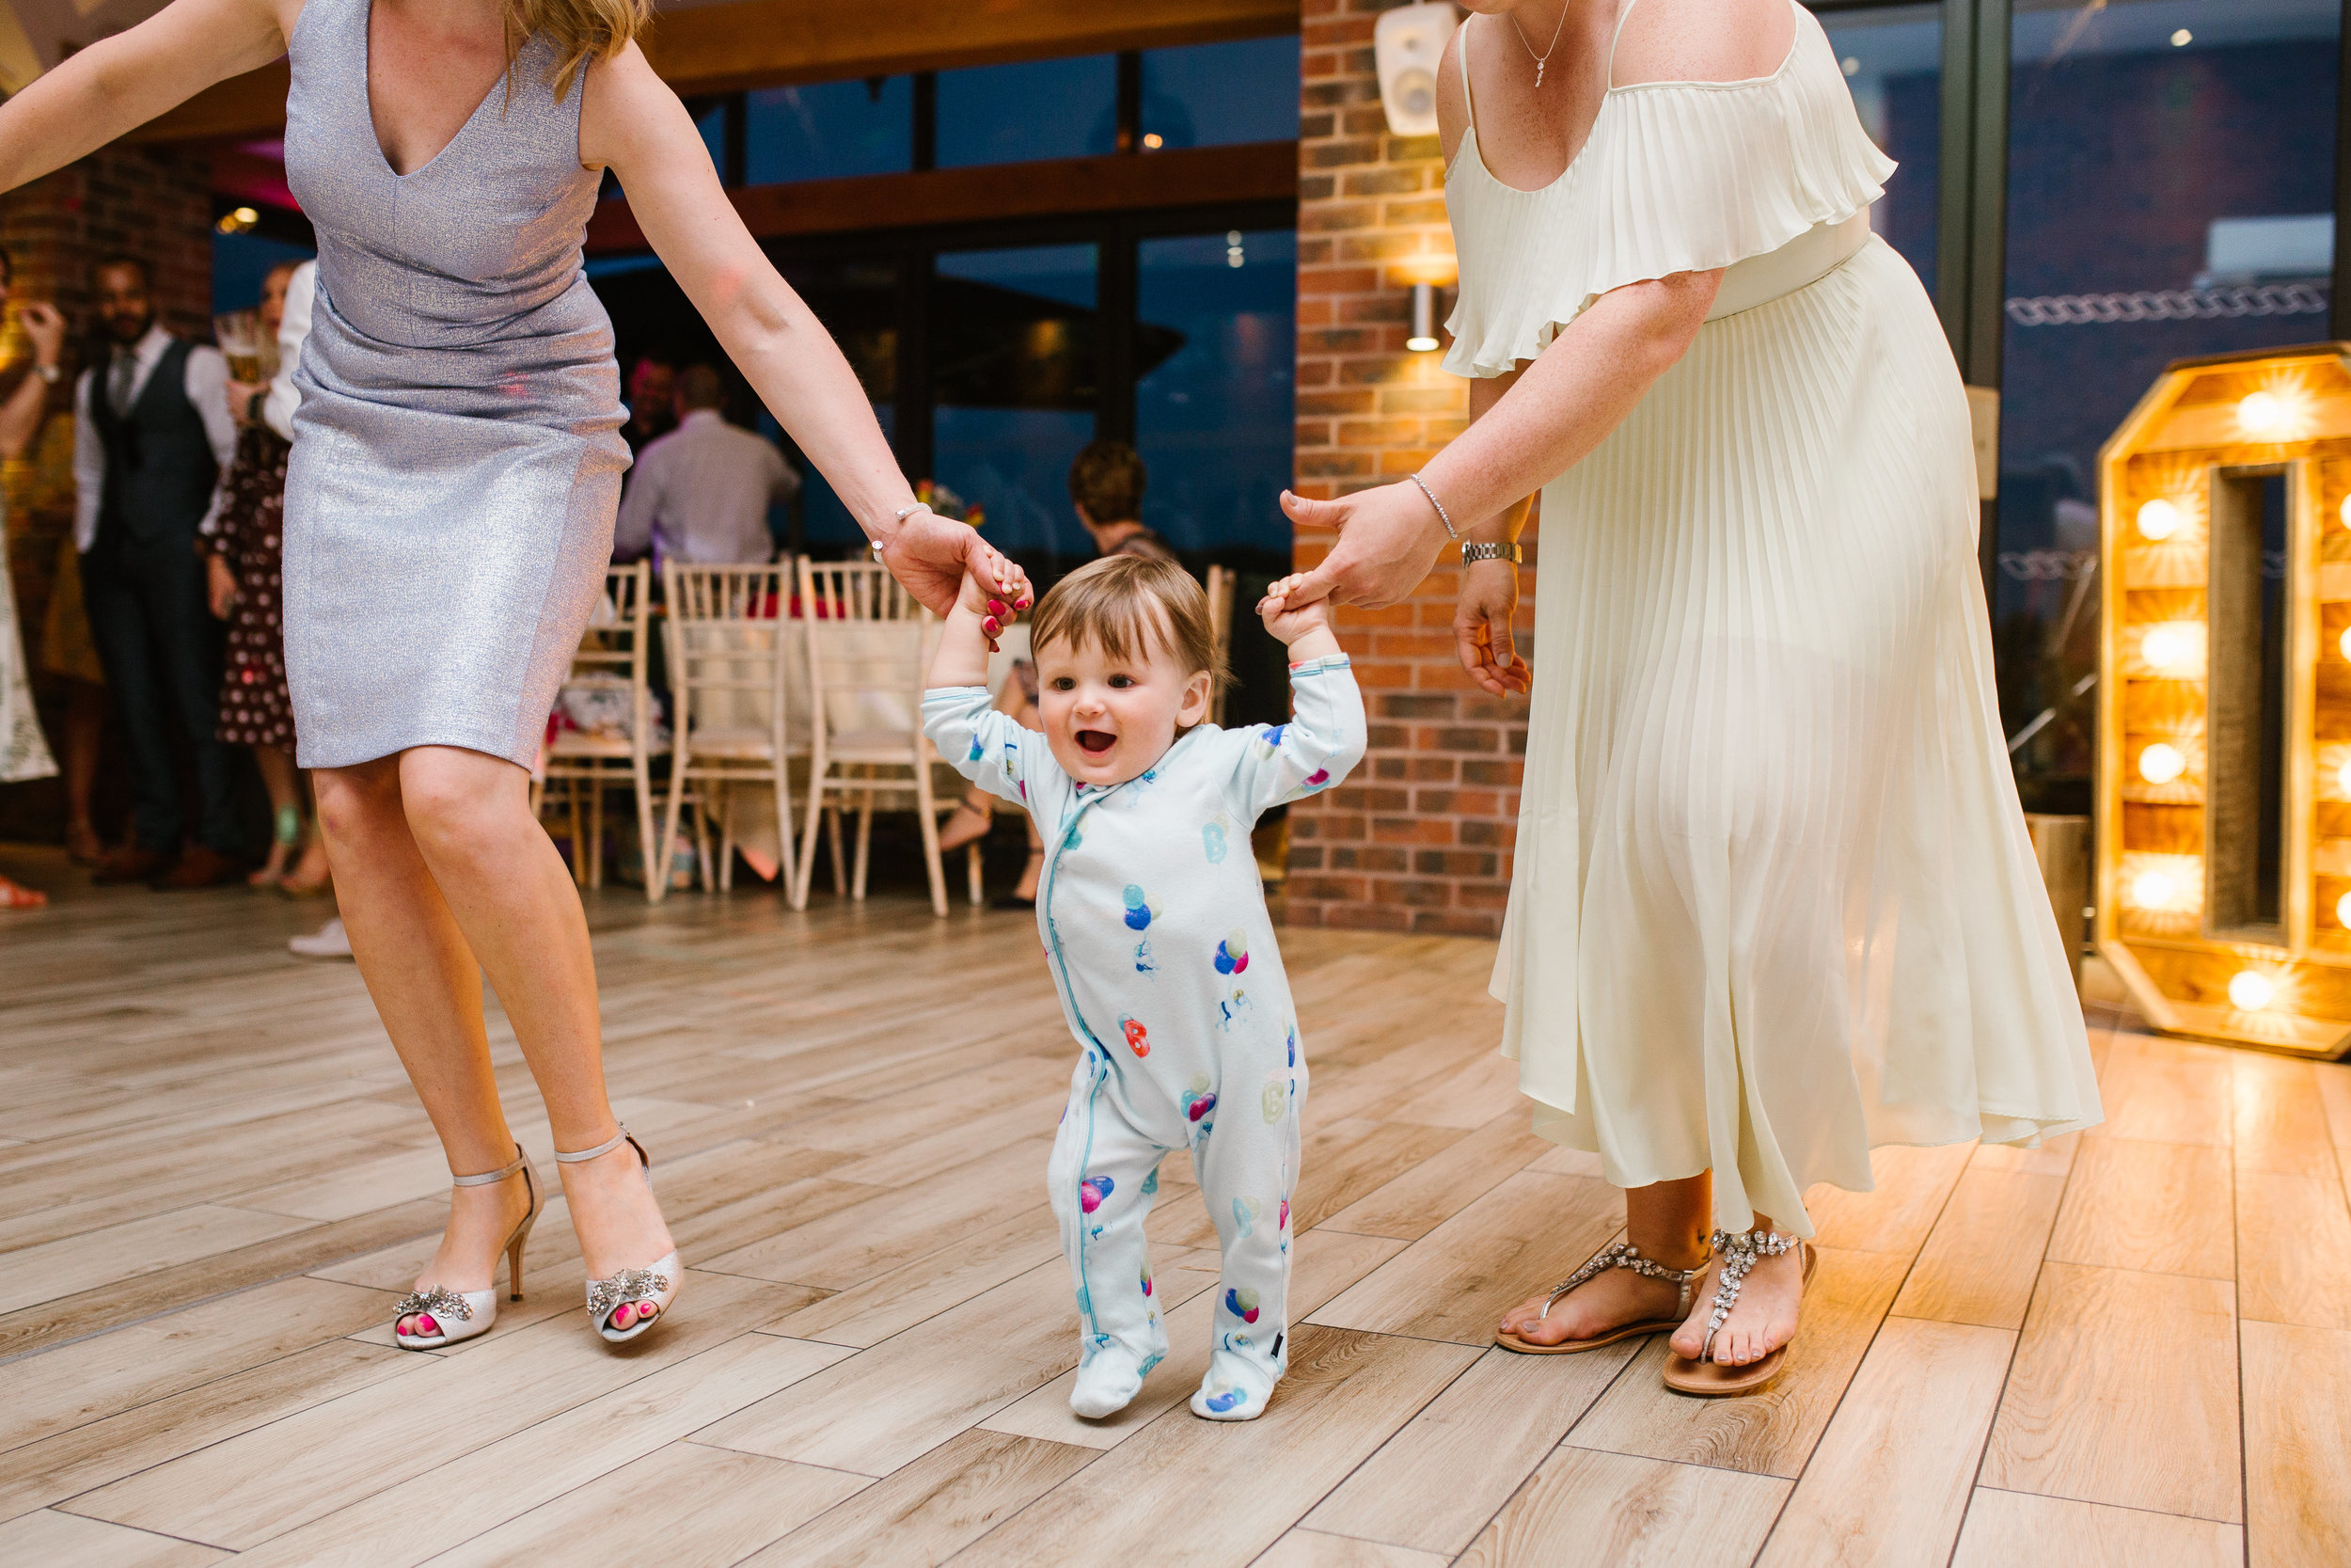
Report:
[{"label": "person in white shirt seen from behind, beyond the pale chairs", "polygon": [[726,383],[708,364],[677,378],[677,428],[637,454],[611,534],[614,559],[651,545],[661,562],[734,567],[776,557],[766,508],[799,494],[776,444],[729,425]]}]

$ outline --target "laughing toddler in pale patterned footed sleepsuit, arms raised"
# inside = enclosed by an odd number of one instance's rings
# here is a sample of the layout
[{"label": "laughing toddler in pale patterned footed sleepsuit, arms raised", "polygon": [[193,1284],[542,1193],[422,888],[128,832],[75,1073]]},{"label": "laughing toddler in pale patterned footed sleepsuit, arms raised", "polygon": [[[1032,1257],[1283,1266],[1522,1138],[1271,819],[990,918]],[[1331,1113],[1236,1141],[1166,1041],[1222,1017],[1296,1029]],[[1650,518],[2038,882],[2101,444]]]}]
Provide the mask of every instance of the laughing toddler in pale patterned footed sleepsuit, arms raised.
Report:
[{"label": "laughing toddler in pale patterned footed sleepsuit, arms raised", "polygon": [[964,583],[924,731],[964,778],[1027,806],[1046,846],[1037,929],[1081,1048],[1046,1168],[1084,1335],[1070,1408],[1121,1410],[1166,1354],[1143,1237],[1159,1161],[1190,1147],[1223,1241],[1192,1413],[1253,1420],[1286,1366],[1291,1190],[1307,1065],[1248,830],[1364,755],[1364,698],[1324,604],[1258,607],[1291,649],[1288,724],[1204,724],[1223,675],[1183,567],[1110,555],[1037,607],[1044,733],[987,705],[987,592]]}]

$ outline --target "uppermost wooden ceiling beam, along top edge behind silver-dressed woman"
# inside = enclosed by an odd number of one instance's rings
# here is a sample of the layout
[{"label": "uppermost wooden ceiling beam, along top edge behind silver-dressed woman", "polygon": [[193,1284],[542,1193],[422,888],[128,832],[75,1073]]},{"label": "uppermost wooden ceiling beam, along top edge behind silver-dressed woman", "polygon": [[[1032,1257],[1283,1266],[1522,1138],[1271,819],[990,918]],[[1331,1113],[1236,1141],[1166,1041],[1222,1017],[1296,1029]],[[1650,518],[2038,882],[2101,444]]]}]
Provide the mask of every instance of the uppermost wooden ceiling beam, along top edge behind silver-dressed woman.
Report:
[{"label": "uppermost wooden ceiling beam, along top edge behind silver-dressed woman", "polygon": [[[1295,31],[1298,0],[741,0],[663,12],[644,54],[679,96],[696,96]],[[275,136],[284,108],[277,61],[207,87],[129,141]]]}]

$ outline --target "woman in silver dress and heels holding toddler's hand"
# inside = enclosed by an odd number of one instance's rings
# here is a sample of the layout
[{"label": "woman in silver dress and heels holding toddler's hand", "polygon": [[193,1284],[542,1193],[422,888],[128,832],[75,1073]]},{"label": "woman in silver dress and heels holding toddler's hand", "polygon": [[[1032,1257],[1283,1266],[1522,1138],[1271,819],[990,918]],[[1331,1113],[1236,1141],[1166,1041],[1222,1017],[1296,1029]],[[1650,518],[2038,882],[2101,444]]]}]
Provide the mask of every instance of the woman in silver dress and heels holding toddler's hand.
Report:
[{"label": "woman in silver dress and heels holding toddler's hand", "polygon": [[174,0],[0,106],[0,188],[202,87],[292,63],[287,179],[317,301],[287,473],[301,764],[353,952],[456,1175],[397,1338],[496,1316],[541,1192],[498,1105],[487,971],[538,1081],[590,1326],[644,1333],[679,1284],[647,1157],[604,1091],[588,926],[527,769],[611,555],[628,444],[581,270],[604,169],[762,400],[945,611],[1016,567],[922,510],[832,339],[726,202],[632,38],[647,0]]}]

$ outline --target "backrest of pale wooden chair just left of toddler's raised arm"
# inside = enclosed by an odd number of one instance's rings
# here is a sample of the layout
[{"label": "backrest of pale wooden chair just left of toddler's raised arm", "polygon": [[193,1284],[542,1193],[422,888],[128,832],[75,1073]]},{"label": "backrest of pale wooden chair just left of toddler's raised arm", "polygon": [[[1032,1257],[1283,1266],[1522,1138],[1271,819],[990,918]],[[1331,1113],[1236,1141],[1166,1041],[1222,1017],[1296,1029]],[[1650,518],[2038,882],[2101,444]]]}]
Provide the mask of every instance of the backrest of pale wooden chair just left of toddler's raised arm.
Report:
[{"label": "backrest of pale wooden chair just left of toddler's raised arm", "polygon": [[924,665],[938,625],[886,567],[799,562],[799,625],[809,649],[809,712],[832,731],[922,731]]}]

